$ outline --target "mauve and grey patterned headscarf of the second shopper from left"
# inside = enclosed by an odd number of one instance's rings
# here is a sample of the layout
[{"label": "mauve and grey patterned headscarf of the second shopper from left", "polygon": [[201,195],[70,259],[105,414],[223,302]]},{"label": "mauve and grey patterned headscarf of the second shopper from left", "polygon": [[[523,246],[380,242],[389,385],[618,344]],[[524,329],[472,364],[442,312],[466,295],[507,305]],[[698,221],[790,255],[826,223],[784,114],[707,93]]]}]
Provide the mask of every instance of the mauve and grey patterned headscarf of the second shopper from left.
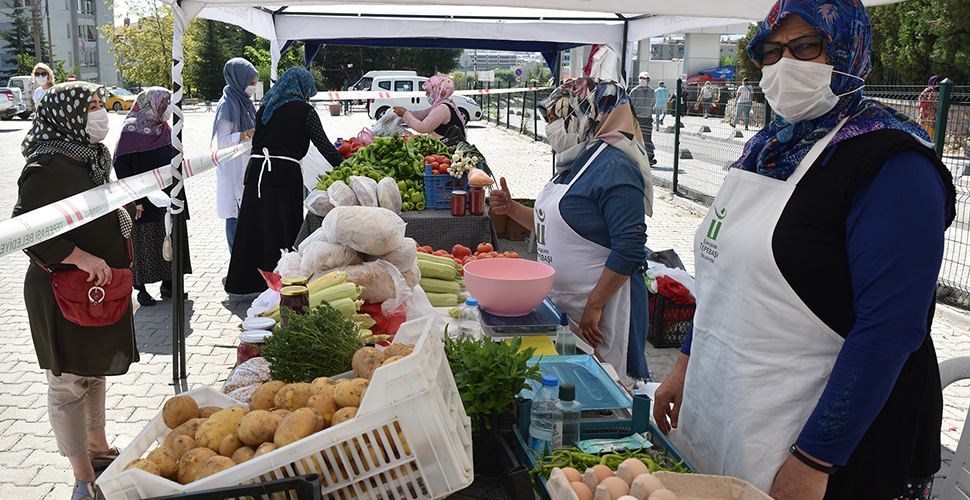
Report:
[{"label": "mauve and grey patterned headscarf of the second shopper from left", "polygon": [[138,94],[125,117],[114,159],[171,145],[172,129],[165,121],[165,110],[171,104],[172,92],[163,87],[148,87]]}]

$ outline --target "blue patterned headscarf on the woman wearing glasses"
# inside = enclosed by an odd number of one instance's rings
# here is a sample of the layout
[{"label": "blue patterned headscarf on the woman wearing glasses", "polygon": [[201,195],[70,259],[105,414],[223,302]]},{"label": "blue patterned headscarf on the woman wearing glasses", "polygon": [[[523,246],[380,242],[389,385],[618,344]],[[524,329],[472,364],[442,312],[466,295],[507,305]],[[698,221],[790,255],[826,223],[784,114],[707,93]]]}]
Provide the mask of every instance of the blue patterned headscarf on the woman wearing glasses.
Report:
[{"label": "blue patterned headscarf on the woman wearing glasses", "polygon": [[[782,19],[791,14],[801,17],[823,35],[828,63],[836,71],[863,79],[869,75],[872,37],[869,17],[859,0],[778,0],[748,44],[752,60],[755,60],[754,46],[777,30]],[[860,87],[856,78],[832,75],[831,88],[836,95]],[[849,120],[830,145],[876,130],[898,129],[930,146],[929,135],[918,123],[893,108],[863,99],[862,92],[857,91],[839,98],[831,111],[814,120],[789,124],[779,117],[748,141],[741,158],[732,167],[787,179],[812,146],[846,117]]]}]

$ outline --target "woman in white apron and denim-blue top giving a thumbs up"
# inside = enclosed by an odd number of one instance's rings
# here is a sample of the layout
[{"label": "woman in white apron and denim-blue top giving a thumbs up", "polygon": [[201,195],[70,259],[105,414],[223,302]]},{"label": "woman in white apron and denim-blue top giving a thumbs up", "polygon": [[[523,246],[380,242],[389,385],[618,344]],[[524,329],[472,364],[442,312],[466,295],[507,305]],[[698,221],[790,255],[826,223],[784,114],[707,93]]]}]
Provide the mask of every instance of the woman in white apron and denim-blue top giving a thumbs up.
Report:
[{"label": "woman in white apron and denim-blue top giving a thumbs up", "polygon": [[559,110],[581,114],[581,142],[560,155],[568,161],[557,165],[534,209],[512,201],[504,178],[491,209],[536,233],[538,261],[556,270],[549,296],[574,331],[624,382],[646,379],[642,267],[653,190],[629,98],[615,83],[592,78],[568,82],[555,95],[574,101]]}]

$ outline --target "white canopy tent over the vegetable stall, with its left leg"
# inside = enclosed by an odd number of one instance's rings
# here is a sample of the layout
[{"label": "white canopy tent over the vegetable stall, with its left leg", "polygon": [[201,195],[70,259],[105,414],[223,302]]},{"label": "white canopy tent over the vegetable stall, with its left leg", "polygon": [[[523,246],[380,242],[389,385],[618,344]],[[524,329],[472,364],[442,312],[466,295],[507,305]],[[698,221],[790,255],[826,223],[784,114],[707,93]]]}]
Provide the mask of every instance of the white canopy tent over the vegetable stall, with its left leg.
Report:
[{"label": "white canopy tent over the vegetable stall, with its left leg", "polygon": [[[774,0],[384,0],[336,1],[289,0],[285,5],[265,5],[255,0],[163,0],[170,4],[175,20],[172,43],[172,80],[174,118],[172,169],[172,245],[181,248],[184,195],[182,190],[182,39],[193,18],[222,21],[239,26],[270,41],[272,74],[284,45],[294,40],[355,39],[460,39],[474,41],[554,42],[569,46],[609,45],[623,54],[618,65],[620,80],[632,67],[633,43],[670,33],[744,23],[763,19]],[[870,0],[866,5],[894,3],[899,0]],[[703,15],[705,17],[697,17]],[[469,42],[470,43],[470,42]],[[411,45],[421,46],[421,45]],[[520,49],[521,50],[521,49]],[[539,50],[536,50],[539,51]],[[183,293],[181,252],[174,252],[173,296]],[[173,301],[174,381],[184,383],[185,325],[184,302]]]}]

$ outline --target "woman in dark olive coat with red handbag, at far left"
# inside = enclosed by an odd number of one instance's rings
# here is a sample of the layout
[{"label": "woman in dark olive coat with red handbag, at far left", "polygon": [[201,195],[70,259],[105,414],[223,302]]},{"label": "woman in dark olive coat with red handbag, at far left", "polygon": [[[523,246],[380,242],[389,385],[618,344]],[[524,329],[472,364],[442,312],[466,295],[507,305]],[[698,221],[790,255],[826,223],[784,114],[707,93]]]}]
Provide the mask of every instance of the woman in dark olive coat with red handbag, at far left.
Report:
[{"label": "woman in dark olive coat with red handbag, at far left", "polygon": [[[50,89],[21,146],[27,165],[14,216],[108,181],[111,153],[101,143],[108,133],[105,96],[104,87],[86,82]],[[134,207],[127,208],[25,250],[37,265],[27,268],[24,304],[38,365],[47,371],[54,438],[74,471],[72,500],[94,500],[94,470],[118,457],[119,450],[105,436],[105,376],[126,373],[138,361],[138,349],[130,305],[111,325],[72,323],[61,313],[51,276],[41,265],[54,272],[80,269],[90,274],[92,284],[110,284],[111,268],[131,263],[127,239]]]}]

